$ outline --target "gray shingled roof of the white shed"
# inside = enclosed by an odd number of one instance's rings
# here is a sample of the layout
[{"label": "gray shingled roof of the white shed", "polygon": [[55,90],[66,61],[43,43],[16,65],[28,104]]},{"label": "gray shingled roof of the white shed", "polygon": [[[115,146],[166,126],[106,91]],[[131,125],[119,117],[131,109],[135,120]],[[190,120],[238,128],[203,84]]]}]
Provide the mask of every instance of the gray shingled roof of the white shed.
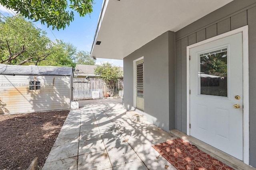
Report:
[{"label": "gray shingled roof of the white shed", "polygon": [[0,74],[70,76],[72,75],[72,67],[0,64]]}]

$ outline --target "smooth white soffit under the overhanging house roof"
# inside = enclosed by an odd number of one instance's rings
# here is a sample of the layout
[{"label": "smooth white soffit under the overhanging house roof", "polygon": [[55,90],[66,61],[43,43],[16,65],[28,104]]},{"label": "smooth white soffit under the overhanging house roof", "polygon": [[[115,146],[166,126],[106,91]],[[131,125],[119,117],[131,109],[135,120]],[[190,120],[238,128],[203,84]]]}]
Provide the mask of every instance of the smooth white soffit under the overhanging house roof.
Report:
[{"label": "smooth white soffit under the overhanging house roof", "polygon": [[123,59],[162,33],[178,31],[231,1],[106,0],[91,56]]}]

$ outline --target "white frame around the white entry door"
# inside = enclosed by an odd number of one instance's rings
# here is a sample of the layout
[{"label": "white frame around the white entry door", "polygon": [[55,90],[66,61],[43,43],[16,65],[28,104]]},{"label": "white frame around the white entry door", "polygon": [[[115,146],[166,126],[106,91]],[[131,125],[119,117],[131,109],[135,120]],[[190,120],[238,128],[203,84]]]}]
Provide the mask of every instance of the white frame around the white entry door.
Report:
[{"label": "white frame around the white entry door", "polygon": [[243,162],[249,165],[249,50],[248,25],[187,46],[187,135],[190,135],[190,49],[242,32],[243,53]]}]

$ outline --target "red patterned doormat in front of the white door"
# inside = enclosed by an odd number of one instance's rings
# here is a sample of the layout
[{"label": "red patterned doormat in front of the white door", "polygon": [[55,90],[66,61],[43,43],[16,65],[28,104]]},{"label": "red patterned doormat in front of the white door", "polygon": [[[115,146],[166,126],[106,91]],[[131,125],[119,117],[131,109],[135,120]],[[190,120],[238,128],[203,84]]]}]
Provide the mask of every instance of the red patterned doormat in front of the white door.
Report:
[{"label": "red patterned doormat in front of the white door", "polygon": [[233,170],[180,138],[152,147],[177,170]]}]

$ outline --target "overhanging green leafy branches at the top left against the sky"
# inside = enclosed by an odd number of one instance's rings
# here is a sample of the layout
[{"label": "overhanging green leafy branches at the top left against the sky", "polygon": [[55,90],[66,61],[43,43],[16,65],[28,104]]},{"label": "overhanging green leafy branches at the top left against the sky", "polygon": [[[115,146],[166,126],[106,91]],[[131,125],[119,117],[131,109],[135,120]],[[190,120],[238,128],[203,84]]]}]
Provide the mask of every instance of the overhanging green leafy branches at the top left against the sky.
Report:
[{"label": "overhanging green leafy branches at the top left against the sky", "polygon": [[[92,12],[94,0],[69,0],[69,8],[76,10],[80,16]],[[6,8],[12,8],[28,19],[41,20],[52,29],[64,29],[74,20],[73,12],[66,10],[66,0],[0,0],[0,4]],[[58,16],[58,17],[56,17]]]}]

